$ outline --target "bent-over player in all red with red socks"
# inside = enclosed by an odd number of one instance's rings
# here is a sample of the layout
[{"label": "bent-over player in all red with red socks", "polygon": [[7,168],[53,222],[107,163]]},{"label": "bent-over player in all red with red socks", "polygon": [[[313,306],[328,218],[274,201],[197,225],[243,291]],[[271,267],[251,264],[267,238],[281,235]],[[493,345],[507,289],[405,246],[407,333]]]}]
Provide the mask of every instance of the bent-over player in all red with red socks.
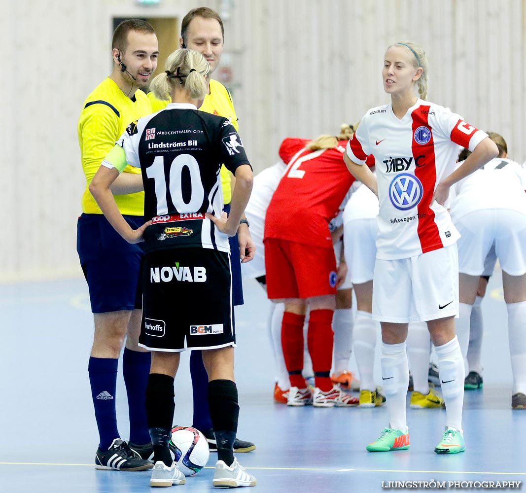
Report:
[{"label": "bent-over player in all red with red socks", "polygon": [[[312,142],[285,139],[280,148],[280,155],[291,150],[296,154],[267,209],[265,265],[268,297],[285,301],[281,341],[290,406],[358,404],[330,379],[336,288],[347,267],[345,261],[336,267],[329,222],[354,181],[342,159],[348,137],[322,135]],[[313,396],[301,376],[307,305],[307,344],[316,381]]]}]

